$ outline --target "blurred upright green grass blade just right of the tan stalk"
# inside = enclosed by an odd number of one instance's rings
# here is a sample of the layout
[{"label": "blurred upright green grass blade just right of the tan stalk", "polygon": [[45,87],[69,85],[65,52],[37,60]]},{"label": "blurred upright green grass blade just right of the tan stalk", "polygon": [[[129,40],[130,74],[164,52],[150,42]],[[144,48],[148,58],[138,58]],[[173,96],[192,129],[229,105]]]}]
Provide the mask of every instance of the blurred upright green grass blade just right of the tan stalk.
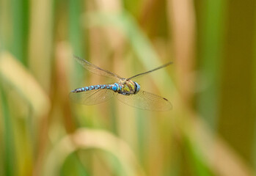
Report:
[{"label": "blurred upright green grass blade just right of the tan stalk", "polygon": [[[203,8],[200,8],[203,7]],[[225,1],[201,1],[200,15],[200,87],[197,106],[202,117],[216,128],[219,116],[219,89],[222,70]],[[201,89],[201,88],[200,88]]]}]

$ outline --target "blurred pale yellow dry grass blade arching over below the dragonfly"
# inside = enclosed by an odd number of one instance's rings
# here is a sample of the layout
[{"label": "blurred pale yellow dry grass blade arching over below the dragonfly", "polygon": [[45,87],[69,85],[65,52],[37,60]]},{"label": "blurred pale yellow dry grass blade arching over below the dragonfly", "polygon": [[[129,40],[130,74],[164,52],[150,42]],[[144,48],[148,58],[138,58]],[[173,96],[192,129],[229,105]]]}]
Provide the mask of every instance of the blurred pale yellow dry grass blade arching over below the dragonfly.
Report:
[{"label": "blurred pale yellow dry grass blade arching over below the dragonfly", "polygon": [[[100,149],[112,153],[123,166],[125,175],[145,175],[136,156],[122,139],[102,130],[81,128],[65,136],[48,155],[44,175],[58,175],[62,164],[70,153],[78,149]],[[114,171],[113,171],[114,172]]]}]

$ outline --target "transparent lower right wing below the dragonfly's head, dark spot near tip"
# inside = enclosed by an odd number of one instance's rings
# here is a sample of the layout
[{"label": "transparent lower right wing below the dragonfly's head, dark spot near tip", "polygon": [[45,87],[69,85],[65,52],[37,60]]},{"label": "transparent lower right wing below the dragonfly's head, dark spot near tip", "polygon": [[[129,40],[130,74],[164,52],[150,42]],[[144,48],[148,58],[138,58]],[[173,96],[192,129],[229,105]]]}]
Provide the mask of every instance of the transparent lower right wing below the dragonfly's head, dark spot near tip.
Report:
[{"label": "transparent lower right wing below the dragonfly's head, dark spot near tip", "polygon": [[129,106],[150,111],[168,111],[172,104],[166,98],[162,98],[150,92],[140,90],[135,95],[117,95],[117,99]]}]

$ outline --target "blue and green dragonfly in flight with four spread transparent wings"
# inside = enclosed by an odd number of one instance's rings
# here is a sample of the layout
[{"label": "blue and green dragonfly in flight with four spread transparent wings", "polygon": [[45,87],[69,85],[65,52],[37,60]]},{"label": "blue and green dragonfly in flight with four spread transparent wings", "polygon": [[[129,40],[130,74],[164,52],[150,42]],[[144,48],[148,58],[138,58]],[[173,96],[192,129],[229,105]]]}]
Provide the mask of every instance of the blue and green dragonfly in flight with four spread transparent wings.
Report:
[{"label": "blue and green dragonfly in flight with four spread transparent wings", "polygon": [[89,70],[89,72],[99,76],[113,78],[115,82],[73,89],[70,92],[70,100],[73,102],[84,105],[95,105],[116,96],[122,103],[138,109],[150,111],[169,111],[172,109],[172,104],[167,98],[144,91],[136,81],[132,81],[134,78],[139,78],[140,76],[145,76],[148,73],[167,67],[171,65],[172,62],[156,67],[153,70],[131,76],[130,78],[122,78],[116,73],[104,70],[78,56],[74,56],[74,58],[80,65]]}]

